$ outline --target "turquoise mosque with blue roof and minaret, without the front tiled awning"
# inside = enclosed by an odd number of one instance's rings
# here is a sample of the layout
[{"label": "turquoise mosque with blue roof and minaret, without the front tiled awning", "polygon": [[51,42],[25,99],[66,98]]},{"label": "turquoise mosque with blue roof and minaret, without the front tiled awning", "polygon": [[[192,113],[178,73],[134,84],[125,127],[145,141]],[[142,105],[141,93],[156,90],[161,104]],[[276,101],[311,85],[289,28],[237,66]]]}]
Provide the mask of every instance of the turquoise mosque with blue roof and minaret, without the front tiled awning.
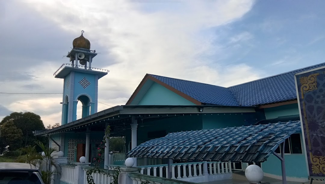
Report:
[{"label": "turquoise mosque with blue roof and minaret, without the front tiled awning", "polygon": [[[145,74],[125,105],[98,112],[98,80],[109,71],[93,67],[97,53],[91,50],[90,42],[83,33],[73,40],[72,45],[67,55],[70,63],[63,64],[54,73],[55,78],[63,79],[61,126],[34,134],[49,136],[50,146],[63,151],[68,162],[79,162],[79,158],[85,156],[93,165],[96,148],[107,125],[111,127],[110,137],[126,138],[127,153],[146,141],[162,138],[169,133],[212,129],[226,131],[231,127],[275,126],[278,122],[288,122],[285,126],[297,125],[299,130],[285,138],[285,149],[281,149],[277,143],[275,152],[284,151],[288,181],[306,181],[306,148],[300,123],[297,123],[300,115],[294,75],[323,67],[325,63],[231,87]],[[76,115],[78,101],[82,103],[80,119]],[[236,131],[237,135],[244,132],[241,129]],[[232,134],[233,138],[238,138],[236,134]],[[232,141],[231,138],[227,140]],[[196,141],[201,140],[203,138],[198,137]],[[124,153],[122,159],[112,161],[108,159],[109,153],[110,150],[105,149],[101,168],[123,165]],[[257,164],[263,169],[264,176],[281,178],[281,162],[277,156],[258,157],[262,158],[259,160],[254,156],[256,151],[251,154],[245,162],[237,159],[226,166],[233,171],[245,171],[248,165]],[[167,163],[165,158],[147,156],[134,158],[135,166]],[[179,157],[174,162],[181,160]]]}]

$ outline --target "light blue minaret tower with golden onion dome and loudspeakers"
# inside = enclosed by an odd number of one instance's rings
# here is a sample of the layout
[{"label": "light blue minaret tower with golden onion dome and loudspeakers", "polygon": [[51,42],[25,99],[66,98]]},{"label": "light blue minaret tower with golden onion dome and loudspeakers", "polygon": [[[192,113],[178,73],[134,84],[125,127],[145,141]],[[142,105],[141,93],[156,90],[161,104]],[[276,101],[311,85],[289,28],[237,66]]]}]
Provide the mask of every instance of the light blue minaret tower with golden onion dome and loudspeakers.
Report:
[{"label": "light blue minaret tower with golden onion dome and loudspeakers", "polygon": [[77,120],[78,101],[82,103],[83,118],[97,112],[98,79],[109,72],[91,67],[97,53],[90,50],[90,42],[83,33],[72,42],[73,48],[67,55],[71,63],[63,64],[54,73],[55,78],[64,79],[61,125]]}]

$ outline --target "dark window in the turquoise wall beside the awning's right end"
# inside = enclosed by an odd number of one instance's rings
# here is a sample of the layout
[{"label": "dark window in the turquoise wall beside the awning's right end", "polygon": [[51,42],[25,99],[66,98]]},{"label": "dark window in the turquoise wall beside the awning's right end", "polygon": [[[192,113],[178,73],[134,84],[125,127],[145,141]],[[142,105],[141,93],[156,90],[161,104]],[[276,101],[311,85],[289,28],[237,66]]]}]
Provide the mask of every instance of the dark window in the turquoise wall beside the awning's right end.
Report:
[{"label": "dark window in the turquoise wall beside the awning's right end", "polygon": [[[283,143],[275,150],[276,153],[281,153]],[[302,154],[302,144],[300,134],[292,134],[289,138],[285,139],[284,153],[289,154]]]}]

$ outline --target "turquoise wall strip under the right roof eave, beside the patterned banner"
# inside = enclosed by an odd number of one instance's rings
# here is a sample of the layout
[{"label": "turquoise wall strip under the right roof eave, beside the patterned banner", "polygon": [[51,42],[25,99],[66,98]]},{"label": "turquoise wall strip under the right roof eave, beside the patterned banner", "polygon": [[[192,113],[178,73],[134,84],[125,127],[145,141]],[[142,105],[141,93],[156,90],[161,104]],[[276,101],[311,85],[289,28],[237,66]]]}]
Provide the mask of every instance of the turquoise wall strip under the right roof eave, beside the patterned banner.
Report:
[{"label": "turquoise wall strip under the right roof eave, beside the patterned banner", "polygon": [[280,116],[299,115],[298,103],[265,108],[266,119],[274,119]]}]

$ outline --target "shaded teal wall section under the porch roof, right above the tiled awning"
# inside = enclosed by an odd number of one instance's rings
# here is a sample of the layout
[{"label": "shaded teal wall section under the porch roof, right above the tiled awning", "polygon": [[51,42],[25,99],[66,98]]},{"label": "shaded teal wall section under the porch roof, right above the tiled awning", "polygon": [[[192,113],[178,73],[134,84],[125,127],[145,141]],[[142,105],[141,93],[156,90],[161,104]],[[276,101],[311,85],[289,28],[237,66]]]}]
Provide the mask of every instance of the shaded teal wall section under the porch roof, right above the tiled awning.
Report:
[{"label": "shaded teal wall section under the porch roof, right above the tiled awning", "polygon": [[[214,113],[202,115],[203,129],[248,126],[255,124],[260,117],[256,112],[249,113]],[[257,119],[257,120],[256,120]]]}]

